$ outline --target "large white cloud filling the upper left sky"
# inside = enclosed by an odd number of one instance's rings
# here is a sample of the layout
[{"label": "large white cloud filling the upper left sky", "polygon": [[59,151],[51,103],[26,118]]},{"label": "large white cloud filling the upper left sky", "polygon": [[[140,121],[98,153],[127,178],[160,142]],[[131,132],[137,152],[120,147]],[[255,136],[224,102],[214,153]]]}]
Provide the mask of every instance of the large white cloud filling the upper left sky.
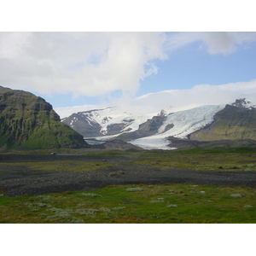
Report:
[{"label": "large white cloud filling the upper left sky", "polygon": [[0,34],[1,83],[43,94],[135,93],[165,59],[160,32],[32,32]]}]

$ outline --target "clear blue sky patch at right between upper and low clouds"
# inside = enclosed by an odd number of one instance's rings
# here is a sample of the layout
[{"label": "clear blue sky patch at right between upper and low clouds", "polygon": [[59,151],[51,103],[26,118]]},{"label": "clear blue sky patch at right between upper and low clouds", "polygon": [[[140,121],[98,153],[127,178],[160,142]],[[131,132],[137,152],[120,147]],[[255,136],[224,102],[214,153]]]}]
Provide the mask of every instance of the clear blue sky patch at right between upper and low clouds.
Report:
[{"label": "clear blue sky patch at right between upper and low clouds", "polygon": [[256,78],[256,44],[238,47],[230,55],[209,55],[200,44],[178,49],[166,61],[156,61],[157,75],[142,82],[138,94],[190,89],[196,84],[228,84]]}]

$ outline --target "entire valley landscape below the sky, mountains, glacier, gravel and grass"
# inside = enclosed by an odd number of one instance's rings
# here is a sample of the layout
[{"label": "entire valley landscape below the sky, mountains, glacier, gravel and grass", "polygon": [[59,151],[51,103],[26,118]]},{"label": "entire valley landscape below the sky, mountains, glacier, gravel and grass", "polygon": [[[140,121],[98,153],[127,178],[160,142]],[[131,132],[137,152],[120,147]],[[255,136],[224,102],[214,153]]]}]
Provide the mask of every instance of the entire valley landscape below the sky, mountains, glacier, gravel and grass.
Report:
[{"label": "entire valley landscape below the sky, mountains, glacier, gravel and grass", "polygon": [[0,87],[0,100],[1,223],[256,220],[256,108],[245,98],[64,119],[26,91]]}]

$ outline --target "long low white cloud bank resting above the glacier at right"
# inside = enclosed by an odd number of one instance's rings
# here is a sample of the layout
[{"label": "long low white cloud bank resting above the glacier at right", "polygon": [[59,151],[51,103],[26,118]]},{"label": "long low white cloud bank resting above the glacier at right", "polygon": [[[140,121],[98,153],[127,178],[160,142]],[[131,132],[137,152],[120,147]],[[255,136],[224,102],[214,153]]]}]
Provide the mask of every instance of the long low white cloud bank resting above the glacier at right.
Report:
[{"label": "long low white cloud bank resting above the glacier at right", "polygon": [[256,104],[256,79],[219,85],[198,84],[189,90],[165,90],[141,96],[137,98],[137,102],[143,103],[143,106],[154,102],[152,105],[165,108],[166,106],[225,104],[240,98],[247,98]]}]

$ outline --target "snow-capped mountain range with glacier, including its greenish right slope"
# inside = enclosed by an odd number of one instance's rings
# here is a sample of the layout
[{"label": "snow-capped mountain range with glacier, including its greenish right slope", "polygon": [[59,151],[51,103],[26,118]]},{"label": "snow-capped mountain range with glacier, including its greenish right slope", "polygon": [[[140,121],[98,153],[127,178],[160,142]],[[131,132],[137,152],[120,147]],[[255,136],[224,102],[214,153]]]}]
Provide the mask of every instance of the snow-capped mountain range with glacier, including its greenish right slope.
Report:
[{"label": "snow-capped mountain range with glacier, including its greenish right slope", "polygon": [[[73,113],[62,121],[85,139],[93,137],[102,142],[119,139],[145,149],[176,148],[174,145],[182,144],[180,140],[190,144],[193,141],[255,140],[253,103],[244,98],[227,103],[167,106],[158,111],[150,108],[151,112],[139,108],[102,108]],[[172,145],[173,140],[176,143]]]}]

